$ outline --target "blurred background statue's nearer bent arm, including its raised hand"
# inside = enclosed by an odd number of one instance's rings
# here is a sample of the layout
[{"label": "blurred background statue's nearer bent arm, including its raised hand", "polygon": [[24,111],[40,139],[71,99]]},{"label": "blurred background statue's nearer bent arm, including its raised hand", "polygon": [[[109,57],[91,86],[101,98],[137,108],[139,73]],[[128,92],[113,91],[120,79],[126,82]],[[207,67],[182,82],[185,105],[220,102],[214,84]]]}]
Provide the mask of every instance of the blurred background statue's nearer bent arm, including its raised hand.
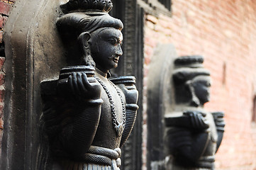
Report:
[{"label": "blurred background statue's nearer bent arm, including its raised hand", "polygon": [[167,145],[170,154],[178,160],[196,162],[208,145],[208,122],[203,113],[185,112],[177,118],[165,118],[167,125]]}]

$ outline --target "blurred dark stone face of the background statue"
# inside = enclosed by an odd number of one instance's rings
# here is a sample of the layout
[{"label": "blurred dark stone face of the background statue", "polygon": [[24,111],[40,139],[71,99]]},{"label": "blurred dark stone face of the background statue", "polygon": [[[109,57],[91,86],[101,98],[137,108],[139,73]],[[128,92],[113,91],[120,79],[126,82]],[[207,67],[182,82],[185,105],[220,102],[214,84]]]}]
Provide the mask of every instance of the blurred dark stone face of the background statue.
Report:
[{"label": "blurred dark stone face of the background statue", "polygon": [[194,87],[194,93],[201,104],[204,104],[210,101],[210,87],[211,87],[211,78],[207,76],[196,77],[192,81]]}]

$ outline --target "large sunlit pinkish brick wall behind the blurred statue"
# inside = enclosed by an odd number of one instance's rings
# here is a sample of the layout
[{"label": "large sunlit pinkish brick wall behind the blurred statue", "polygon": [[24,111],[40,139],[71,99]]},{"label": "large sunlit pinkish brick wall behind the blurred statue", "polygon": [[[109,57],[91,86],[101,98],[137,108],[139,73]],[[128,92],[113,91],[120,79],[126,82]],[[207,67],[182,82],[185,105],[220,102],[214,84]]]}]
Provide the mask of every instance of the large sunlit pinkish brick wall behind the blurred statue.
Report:
[{"label": "large sunlit pinkish brick wall behind the blurred statue", "polygon": [[256,125],[251,119],[256,95],[256,1],[172,3],[172,17],[146,16],[145,89],[157,43],[174,44],[178,55],[203,55],[213,79],[206,109],[226,113],[226,132],[216,154],[216,169],[255,170]]}]

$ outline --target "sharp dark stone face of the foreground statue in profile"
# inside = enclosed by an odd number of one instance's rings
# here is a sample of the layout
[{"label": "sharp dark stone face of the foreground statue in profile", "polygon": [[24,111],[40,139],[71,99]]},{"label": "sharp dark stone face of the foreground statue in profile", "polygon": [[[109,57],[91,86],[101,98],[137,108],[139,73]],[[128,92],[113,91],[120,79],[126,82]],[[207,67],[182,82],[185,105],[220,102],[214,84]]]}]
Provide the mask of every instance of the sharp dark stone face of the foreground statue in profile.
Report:
[{"label": "sharp dark stone face of the foreground statue in profile", "polygon": [[118,66],[118,60],[123,51],[121,45],[123,34],[116,28],[101,28],[91,33],[89,40],[91,45],[91,56],[96,67],[102,72]]}]

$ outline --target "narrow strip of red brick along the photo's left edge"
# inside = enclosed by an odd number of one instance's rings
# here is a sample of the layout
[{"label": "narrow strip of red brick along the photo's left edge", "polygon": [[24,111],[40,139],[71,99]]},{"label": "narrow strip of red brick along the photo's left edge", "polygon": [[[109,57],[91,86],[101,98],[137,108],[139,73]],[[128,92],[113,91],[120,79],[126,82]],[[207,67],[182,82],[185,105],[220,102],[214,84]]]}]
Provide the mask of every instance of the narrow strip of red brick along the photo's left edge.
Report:
[{"label": "narrow strip of red brick along the photo's left edge", "polygon": [[[4,72],[3,64],[5,60],[4,55],[4,25],[8,19],[11,11],[11,7],[16,0],[0,0],[0,150],[1,150],[1,139],[3,135],[4,128],[4,118],[3,118],[3,107],[4,107]],[[1,154],[1,152],[0,152]]]}]

